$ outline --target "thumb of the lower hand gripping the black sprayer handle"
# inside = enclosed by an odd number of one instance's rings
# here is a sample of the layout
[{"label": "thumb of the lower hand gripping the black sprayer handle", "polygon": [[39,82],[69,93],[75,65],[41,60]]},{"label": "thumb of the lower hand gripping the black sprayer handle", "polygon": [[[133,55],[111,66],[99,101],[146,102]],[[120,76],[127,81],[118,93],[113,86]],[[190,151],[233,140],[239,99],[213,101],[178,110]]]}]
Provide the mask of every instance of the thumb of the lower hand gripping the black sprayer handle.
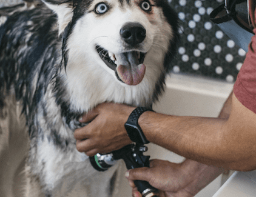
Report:
[{"label": "thumb of the lower hand gripping the black sprayer handle", "polygon": [[148,167],[140,167],[137,169],[128,170],[125,176],[130,181],[141,180],[149,182],[151,178]]}]

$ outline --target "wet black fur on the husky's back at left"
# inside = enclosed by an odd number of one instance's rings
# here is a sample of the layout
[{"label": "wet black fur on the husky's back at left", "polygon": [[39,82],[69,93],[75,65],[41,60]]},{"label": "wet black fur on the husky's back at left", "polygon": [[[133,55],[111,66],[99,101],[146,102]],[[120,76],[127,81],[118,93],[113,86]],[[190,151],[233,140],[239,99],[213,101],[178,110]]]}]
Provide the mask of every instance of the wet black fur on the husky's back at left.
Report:
[{"label": "wet black fur on the husky's back at left", "polygon": [[[18,6],[22,7],[23,4]],[[26,25],[27,21],[32,21],[33,25]],[[22,100],[28,121],[29,116],[35,114],[36,105],[57,72],[57,67],[49,67],[49,63],[56,62],[61,54],[56,47],[58,32],[50,32],[56,21],[52,11],[39,7],[7,15],[7,22],[0,27],[0,91],[5,90],[8,94],[13,86],[16,99]],[[29,33],[32,36],[25,41]],[[19,54],[21,50],[24,52]],[[34,89],[32,81],[37,74]],[[1,103],[4,104],[2,99]]]}]

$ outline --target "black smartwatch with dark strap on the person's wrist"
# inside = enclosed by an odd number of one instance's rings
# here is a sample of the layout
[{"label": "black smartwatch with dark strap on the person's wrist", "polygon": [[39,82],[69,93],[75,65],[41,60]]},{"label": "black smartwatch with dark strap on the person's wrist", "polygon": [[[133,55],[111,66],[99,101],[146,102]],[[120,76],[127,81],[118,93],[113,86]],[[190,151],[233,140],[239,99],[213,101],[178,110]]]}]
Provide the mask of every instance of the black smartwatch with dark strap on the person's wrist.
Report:
[{"label": "black smartwatch with dark strap on the person's wrist", "polygon": [[124,127],[126,127],[126,132],[133,142],[136,142],[137,144],[148,144],[149,141],[145,137],[144,133],[141,130],[140,125],[138,124],[138,119],[140,118],[140,115],[142,115],[144,112],[152,111],[151,109],[148,109],[146,107],[137,107],[133,112],[130,114],[126,124],[124,124]]}]

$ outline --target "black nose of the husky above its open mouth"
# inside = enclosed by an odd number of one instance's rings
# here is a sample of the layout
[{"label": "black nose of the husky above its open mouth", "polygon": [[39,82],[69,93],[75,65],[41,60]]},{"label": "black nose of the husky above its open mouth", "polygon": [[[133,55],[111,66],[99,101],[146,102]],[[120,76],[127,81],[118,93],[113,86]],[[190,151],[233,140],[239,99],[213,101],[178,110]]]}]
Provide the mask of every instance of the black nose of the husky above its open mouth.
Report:
[{"label": "black nose of the husky above its open mouth", "polygon": [[121,28],[120,35],[127,44],[134,47],[146,38],[146,29],[139,23],[128,22]]}]

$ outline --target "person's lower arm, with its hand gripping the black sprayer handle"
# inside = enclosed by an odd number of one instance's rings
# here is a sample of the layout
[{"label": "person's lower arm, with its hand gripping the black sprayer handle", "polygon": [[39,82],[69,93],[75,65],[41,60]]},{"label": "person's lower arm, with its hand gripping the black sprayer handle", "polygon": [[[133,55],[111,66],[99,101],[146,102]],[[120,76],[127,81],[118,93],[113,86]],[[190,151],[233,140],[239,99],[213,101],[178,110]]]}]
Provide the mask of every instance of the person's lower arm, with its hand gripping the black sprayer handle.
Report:
[{"label": "person's lower arm, with its hand gripping the black sprayer handle", "polygon": [[[218,118],[228,119],[231,107],[232,93],[224,103]],[[154,160],[150,162],[150,168],[129,170],[126,176],[133,188],[133,196],[135,197],[141,196],[133,183],[133,180],[136,179],[150,182],[153,187],[161,191],[161,196],[190,197],[200,192],[223,172],[224,169],[201,164],[190,159],[186,159],[181,164]]]}]

